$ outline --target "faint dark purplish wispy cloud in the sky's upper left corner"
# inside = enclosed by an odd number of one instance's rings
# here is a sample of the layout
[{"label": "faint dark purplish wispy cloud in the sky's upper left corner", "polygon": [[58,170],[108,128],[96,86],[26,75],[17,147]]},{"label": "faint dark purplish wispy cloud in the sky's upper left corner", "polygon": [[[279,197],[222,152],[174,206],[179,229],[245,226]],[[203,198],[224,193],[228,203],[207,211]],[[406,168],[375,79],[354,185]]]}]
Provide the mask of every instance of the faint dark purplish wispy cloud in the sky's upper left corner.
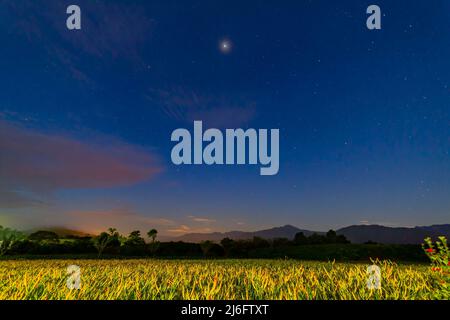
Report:
[{"label": "faint dark purplish wispy cloud in the sky's upper left corner", "polygon": [[79,64],[86,55],[103,64],[125,59],[142,65],[141,49],[151,37],[154,21],[142,6],[117,2],[78,1],[82,8],[82,29],[66,28],[68,1],[7,1],[4,6],[14,17],[11,32],[23,35],[31,44],[47,51],[77,80],[90,82],[89,70]]}]

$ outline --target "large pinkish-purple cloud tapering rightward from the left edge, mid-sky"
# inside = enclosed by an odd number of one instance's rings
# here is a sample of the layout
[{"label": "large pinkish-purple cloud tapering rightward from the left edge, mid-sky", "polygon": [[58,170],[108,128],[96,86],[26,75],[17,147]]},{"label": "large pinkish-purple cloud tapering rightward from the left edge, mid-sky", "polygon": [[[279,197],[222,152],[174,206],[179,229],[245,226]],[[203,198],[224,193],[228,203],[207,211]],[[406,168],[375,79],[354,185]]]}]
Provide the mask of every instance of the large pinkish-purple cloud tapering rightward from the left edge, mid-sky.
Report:
[{"label": "large pinkish-purple cloud tapering rightward from the left edge, mid-sky", "polygon": [[58,189],[133,185],[161,171],[156,156],[121,141],[96,145],[3,120],[0,150],[0,207],[40,204]]}]

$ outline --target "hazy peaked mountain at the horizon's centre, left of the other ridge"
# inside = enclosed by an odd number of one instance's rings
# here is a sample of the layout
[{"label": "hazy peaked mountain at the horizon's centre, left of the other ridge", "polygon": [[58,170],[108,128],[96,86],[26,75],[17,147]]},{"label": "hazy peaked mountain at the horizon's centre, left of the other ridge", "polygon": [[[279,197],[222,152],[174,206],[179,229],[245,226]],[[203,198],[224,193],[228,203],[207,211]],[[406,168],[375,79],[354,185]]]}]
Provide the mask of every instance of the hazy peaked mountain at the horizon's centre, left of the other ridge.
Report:
[{"label": "hazy peaked mountain at the horizon's centre, left of the other ridge", "polygon": [[[253,237],[260,237],[264,239],[288,238],[294,239],[295,234],[303,232],[305,236],[310,236],[314,231],[302,230],[291,225],[283,227],[276,227],[266,230],[246,232],[246,231],[229,231],[229,232],[212,232],[212,233],[187,233],[185,235],[173,238],[174,241],[194,242],[198,243],[205,240],[219,242],[223,238],[230,238],[233,240],[253,239]],[[316,232],[322,234],[322,232]]]}]

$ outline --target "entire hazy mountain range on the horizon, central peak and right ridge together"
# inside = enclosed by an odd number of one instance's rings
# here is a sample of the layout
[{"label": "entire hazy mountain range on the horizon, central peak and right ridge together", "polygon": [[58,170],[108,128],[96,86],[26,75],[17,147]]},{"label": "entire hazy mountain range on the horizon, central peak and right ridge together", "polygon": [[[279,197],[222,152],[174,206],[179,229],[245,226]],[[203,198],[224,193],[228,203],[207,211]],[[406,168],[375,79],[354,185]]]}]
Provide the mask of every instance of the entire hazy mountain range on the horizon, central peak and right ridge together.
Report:
[{"label": "entire hazy mountain range on the horizon, central peak and right ridge together", "polygon": [[[219,242],[223,238],[233,240],[252,239],[261,237],[264,239],[287,238],[293,239],[295,234],[303,232],[305,236],[313,233],[324,234],[324,232],[303,230],[291,225],[276,227],[266,230],[245,232],[213,232],[213,233],[187,233],[182,236],[171,238],[172,241],[184,241],[198,243],[205,240]],[[353,225],[336,230],[338,235],[344,235],[352,243],[364,243],[368,241],[386,244],[419,244],[426,237],[437,238],[446,236],[450,238],[450,224],[422,226],[422,227],[385,227],[381,225]]]}]

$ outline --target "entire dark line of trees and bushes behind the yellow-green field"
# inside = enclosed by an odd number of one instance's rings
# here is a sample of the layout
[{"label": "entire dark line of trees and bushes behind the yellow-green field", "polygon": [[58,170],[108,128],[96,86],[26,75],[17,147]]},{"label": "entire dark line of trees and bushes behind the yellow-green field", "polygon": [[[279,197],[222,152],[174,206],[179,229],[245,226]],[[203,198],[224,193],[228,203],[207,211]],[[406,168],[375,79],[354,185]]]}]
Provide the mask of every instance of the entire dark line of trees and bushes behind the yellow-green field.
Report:
[{"label": "entire dark line of trees and bushes behind the yellow-green field", "polygon": [[121,235],[109,228],[97,236],[64,236],[52,231],[29,235],[0,226],[0,256],[8,257],[155,257],[155,258],[294,258],[304,260],[369,260],[370,258],[424,261],[426,256],[417,245],[351,244],[344,236],[330,230],[326,234],[299,232],[294,239],[248,240],[224,238],[220,242],[160,242],[158,231],[144,235],[132,231]]}]

